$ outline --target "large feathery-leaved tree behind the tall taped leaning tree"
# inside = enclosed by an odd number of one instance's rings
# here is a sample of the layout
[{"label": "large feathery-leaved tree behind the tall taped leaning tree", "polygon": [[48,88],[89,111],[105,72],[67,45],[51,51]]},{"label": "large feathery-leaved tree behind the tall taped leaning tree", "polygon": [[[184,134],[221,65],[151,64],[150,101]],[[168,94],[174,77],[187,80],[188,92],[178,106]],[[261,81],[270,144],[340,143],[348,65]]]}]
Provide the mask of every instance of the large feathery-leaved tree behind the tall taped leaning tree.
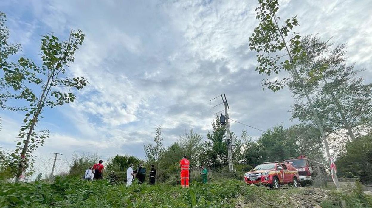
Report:
[{"label": "large feathery-leaved tree behind the tall taped leaning tree", "polygon": [[[318,36],[305,36],[301,46],[307,57],[297,63],[299,74],[314,101],[320,122],[328,133],[346,129],[351,140],[356,132],[370,129],[372,125],[372,84],[364,84],[357,77],[354,64],[346,65],[345,44],[333,47],[333,43],[321,41]],[[301,84],[289,81],[296,103],[292,117],[302,122],[313,122],[314,117],[307,103],[303,102]]]}]

